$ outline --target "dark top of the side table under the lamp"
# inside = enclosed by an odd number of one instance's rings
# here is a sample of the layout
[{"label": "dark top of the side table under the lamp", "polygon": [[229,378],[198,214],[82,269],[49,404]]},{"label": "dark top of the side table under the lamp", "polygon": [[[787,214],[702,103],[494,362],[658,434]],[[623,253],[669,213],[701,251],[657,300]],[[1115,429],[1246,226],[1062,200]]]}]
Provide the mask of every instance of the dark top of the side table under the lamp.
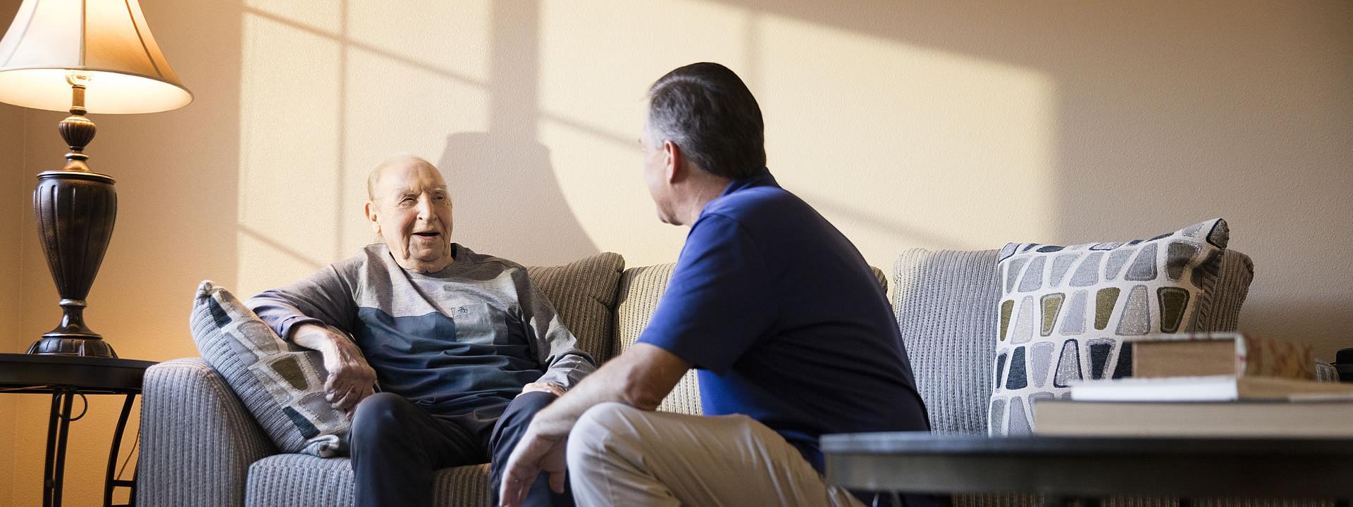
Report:
[{"label": "dark top of the side table under the lamp", "polygon": [[84,393],[141,391],[154,361],[107,357],[0,354],[0,392],[51,392],[76,387]]}]

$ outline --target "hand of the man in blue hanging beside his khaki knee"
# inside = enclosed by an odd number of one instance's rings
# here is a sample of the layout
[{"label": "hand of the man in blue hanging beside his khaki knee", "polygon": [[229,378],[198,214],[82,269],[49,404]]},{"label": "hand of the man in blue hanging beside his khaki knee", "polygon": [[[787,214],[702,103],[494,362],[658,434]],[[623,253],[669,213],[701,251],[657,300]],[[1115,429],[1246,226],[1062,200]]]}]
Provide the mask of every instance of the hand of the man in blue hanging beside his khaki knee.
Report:
[{"label": "hand of the man in blue hanging beside his khaki knee", "polygon": [[549,473],[549,489],[563,493],[568,480],[567,449],[568,435],[545,437],[534,431],[534,426],[528,429],[503,466],[503,483],[498,485],[499,504],[517,507],[526,502],[530,484],[540,472]]}]

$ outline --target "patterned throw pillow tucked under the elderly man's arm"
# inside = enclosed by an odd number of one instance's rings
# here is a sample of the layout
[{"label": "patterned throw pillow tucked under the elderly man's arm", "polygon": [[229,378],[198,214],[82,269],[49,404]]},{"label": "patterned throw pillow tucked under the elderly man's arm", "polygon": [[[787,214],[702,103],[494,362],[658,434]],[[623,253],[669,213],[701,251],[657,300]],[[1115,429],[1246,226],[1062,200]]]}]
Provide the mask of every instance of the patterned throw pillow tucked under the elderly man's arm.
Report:
[{"label": "patterned throw pillow tucked under the elderly man's arm", "polygon": [[192,339],[283,453],[346,454],[348,419],[325,400],[318,352],[288,343],[230,291],[203,281]]}]

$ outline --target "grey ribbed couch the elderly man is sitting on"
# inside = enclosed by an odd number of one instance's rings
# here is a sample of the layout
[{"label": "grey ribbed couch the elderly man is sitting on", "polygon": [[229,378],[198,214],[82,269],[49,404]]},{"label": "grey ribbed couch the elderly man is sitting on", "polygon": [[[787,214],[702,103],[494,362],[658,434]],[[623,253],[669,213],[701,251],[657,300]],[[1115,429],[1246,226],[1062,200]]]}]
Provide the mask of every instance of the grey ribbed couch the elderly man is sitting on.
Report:
[{"label": "grey ribbed couch the elderly man is sitting on", "polygon": [[[609,257],[614,256],[614,257]],[[616,254],[578,264],[617,265]],[[908,250],[893,266],[892,301],[911,354],[917,388],[936,433],[986,433],[997,322],[997,250]],[[622,268],[622,261],[618,264]],[[568,266],[529,268],[580,346],[605,361],[635,343],[662,297],[672,265],[616,268],[606,289],[579,293]],[[879,283],[888,279],[875,269]],[[1220,284],[1249,285],[1253,265],[1242,253],[1223,257]],[[1239,287],[1239,285],[1238,285]],[[1243,287],[1241,287],[1243,293]],[[586,291],[583,291],[586,292]],[[1242,300],[1226,310],[1234,327]],[[586,331],[579,331],[586,329]],[[599,337],[599,339],[598,339]],[[161,362],[146,370],[141,412],[137,503],[160,506],[350,506],[346,458],[279,454],[239,399],[202,358]],[[659,410],[700,414],[689,372]],[[438,470],[436,504],[484,506],[487,465]],[[1011,504],[1020,498],[965,498],[965,504]]]}]

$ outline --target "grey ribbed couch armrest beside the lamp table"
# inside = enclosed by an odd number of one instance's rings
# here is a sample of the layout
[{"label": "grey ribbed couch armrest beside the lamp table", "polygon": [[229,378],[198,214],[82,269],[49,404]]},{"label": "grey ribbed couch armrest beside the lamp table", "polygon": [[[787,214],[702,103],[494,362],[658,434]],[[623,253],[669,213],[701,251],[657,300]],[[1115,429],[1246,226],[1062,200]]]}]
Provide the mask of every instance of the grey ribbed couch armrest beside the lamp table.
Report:
[{"label": "grey ribbed couch armrest beside the lamp table", "polygon": [[137,504],[244,506],[249,465],[277,450],[200,358],[146,370]]}]

